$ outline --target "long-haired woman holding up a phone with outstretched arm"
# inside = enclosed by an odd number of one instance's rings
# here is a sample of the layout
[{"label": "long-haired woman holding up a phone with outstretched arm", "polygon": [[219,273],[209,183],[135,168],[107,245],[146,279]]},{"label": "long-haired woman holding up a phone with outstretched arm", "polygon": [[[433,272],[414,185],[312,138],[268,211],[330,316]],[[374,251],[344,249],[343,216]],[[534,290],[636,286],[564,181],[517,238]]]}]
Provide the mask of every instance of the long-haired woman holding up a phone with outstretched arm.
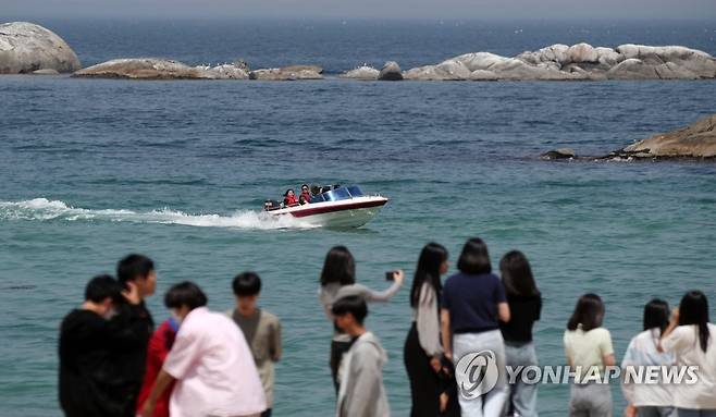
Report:
[{"label": "long-haired woman holding up a phone with outstretched arm", "polygon": [[323,270],[321,271],[319,298],[334,329],[333,340],[331,341],[330,365],[336,393],[338,392],[337,375],[341,359],[343,354],[348,352],[355,339],[335,324],[332,314],[333,303],[338,298],[351,295],[357,295],[366,302],[387,302],[400,290],[404,278],[403,271],[396,270],[393,274],[393,284],[385,291],[376,292],[356,283],[356,261],[347,247],[334,246],[325,255]]}]

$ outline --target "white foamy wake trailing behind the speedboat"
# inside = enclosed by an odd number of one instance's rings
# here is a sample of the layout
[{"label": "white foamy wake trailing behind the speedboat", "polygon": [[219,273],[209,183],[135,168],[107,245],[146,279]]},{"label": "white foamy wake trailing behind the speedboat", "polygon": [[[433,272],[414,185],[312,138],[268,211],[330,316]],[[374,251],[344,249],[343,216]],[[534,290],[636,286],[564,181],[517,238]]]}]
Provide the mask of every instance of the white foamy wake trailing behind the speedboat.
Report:
[{"label": "white foamy wake trailing behind the speedboat", "polygon": [[314,225],[292,217],[273,217],[260,211],[240,210],[233,214],[192,214],[163,208],[138,212],[124,209],[92,210],[76,208],[60,200],[33,198],[23,201],[0,201],[0,220],[36,221],[116,221],[134,223],[182,224],[197,228],[225,229],[310,229]]}]

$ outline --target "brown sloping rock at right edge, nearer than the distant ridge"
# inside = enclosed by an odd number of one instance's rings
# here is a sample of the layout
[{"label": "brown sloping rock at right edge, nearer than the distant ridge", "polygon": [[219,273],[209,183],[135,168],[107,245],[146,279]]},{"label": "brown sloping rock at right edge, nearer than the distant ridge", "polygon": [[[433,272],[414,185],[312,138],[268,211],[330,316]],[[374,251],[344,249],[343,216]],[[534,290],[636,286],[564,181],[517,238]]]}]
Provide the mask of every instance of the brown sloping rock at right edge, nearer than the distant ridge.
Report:
[{"label": "brown sloping rock at right edge, nearer than the distant ridge", "polygon": [[639,140],[607,158],[716,158],[716,114],[677,131]]}]

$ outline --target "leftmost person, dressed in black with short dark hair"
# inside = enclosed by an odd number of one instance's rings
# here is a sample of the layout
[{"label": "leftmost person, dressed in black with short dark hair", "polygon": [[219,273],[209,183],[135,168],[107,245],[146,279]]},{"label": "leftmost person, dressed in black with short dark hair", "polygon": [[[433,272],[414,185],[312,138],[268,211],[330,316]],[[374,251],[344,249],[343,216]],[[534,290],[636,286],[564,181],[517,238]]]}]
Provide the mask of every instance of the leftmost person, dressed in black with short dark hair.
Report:
[{"label": "leftmost person, dressed in black with short dark hair", "polygon": [[123,417],[125,403],[113,395],[112,354],[118,340],[109,324],[121,286],[110,275],[92,278],[82,307],[60,330],[60,406],[66,417]]}]

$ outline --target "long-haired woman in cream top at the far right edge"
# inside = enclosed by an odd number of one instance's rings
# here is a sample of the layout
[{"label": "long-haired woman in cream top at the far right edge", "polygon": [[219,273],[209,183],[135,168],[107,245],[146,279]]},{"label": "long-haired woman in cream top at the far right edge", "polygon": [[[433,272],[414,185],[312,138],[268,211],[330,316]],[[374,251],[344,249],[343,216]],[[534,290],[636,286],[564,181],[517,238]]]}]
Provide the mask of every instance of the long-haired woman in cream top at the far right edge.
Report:
[{"label": "long-haired woman in cream top at the far right edge", "polygon": [[693,384],[674,384],[674,405],[679,417],[716,417],[716,326],[708,320],[708,301],[701,291],[681,298],[664,330],[661,349],[672,353],[676,365],[695,367]]}]

